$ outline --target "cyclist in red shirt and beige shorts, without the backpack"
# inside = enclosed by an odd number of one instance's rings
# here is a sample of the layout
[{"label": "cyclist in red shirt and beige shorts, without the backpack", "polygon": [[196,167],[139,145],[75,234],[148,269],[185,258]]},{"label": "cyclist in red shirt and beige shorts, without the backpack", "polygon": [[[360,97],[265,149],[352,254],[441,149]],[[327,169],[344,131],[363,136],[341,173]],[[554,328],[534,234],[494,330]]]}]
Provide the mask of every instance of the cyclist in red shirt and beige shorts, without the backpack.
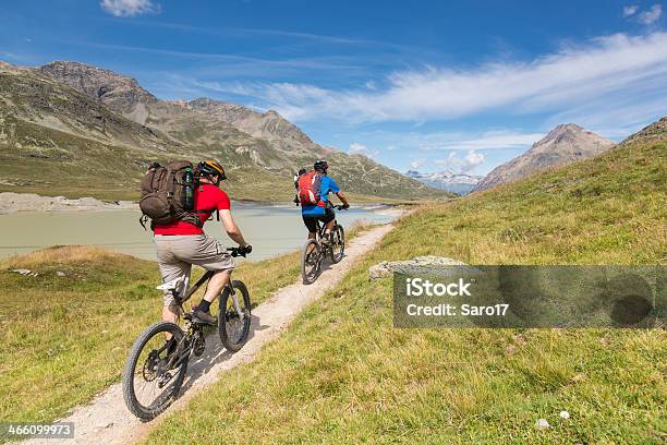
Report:
[{"label": "cyclist in red shirt and beige shorts, without the backpack", "polygon": [[[196,172],[199,185],[194,192],[194,202],[202,225],[214,212],[219,212],[229,238],[250,252],[252,248],[245,242],[241,229],[232,218],[229,196],[219,188],[220,181],[227,179],[222,166],[214,160],[205,160],[198,164]],[[215,325],[217,320],[210,314],[209,306],[229,284],[234,268],[231,255],[218,240],[204,233],[201,227],[191,222],[177,220],[156,225],[154,231],[162,282],[190,276],[193,264],[207,270],[216,270],[208,281],[204,299],[193,312],[193,317],[199,322]],[[175,323],[179,315],[179,306],[173,297],[171,293],[165,293],[162,320]]]}]

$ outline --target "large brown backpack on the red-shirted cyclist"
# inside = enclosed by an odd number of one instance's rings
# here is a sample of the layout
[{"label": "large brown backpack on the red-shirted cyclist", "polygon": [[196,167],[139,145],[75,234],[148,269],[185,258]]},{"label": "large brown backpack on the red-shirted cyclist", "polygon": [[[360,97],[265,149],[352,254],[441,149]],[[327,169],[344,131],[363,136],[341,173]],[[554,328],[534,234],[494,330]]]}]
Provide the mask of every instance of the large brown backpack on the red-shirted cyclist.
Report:
[{"label": "large brown backpack on the red-shirted cyclist", "polygon": [[194,209],[196,179],[192,163],[173,160],[166,166],[153,163],[142,180],[140,222],[146,228],[156,224],[183,220],[202,227],[204,224]]}]

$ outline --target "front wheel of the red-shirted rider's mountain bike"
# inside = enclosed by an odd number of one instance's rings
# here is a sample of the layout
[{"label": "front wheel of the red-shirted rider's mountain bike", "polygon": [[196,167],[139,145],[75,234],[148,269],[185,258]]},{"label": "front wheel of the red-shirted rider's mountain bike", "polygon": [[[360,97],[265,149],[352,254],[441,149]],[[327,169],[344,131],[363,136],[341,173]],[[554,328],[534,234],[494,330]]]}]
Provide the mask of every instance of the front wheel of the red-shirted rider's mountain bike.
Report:
[{"label": "front wheel of the red-shirted rider's mountain bike", "polygon": [[251,300],[250,292],[243,281],[234,279],[232,286],[235,291],[239,309],[234,304],[234,296],[232,296],[231,289],[226,287],[220,296],[218,333],[225,348],[230,352],[237,352],[243,348],[250,334],[252,321]]}]

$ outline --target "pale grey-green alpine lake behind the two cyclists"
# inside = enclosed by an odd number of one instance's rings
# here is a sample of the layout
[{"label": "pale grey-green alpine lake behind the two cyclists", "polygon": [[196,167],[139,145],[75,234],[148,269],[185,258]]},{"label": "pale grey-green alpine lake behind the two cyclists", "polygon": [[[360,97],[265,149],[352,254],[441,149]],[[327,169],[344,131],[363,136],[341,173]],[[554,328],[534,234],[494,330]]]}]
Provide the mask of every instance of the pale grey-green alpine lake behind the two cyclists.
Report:
[{"label": "pale grey-green alpine lake behind the two cyclists", "polygon": [[[380,207],[381,208],[381,207]],[[155,260],[153,232],[138,222],[138,211],[20,212],[0,215],[0,257],[27,253],[51,245],[88,244]],[[251,261],[265,260],[300,249],[307,231],[300,207],[255,203],[232,203],[232,216],[245,240],[253,245]],[[337,211],[344,228],[357,221],[384,224],[395,218],[378,208]],[[206,233],[225,245],[235,245],[215,217],[204,227]]]}]

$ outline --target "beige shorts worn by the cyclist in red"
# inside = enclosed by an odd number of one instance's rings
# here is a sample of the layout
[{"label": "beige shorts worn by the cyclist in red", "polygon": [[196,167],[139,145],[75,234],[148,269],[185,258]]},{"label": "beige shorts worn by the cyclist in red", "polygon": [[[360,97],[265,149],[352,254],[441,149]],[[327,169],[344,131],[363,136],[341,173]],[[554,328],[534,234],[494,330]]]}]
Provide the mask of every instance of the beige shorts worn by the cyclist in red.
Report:
[{"label": "beige shorts worn by the cyclist in red", "polygon": [[[234,268],[234,261],[225,246],[207,234],[156,234],[155,245],[162,282],[190,276],[193,264],[206,270]],[[171,292],[165,292],[165,305],[173,303]]]}]

